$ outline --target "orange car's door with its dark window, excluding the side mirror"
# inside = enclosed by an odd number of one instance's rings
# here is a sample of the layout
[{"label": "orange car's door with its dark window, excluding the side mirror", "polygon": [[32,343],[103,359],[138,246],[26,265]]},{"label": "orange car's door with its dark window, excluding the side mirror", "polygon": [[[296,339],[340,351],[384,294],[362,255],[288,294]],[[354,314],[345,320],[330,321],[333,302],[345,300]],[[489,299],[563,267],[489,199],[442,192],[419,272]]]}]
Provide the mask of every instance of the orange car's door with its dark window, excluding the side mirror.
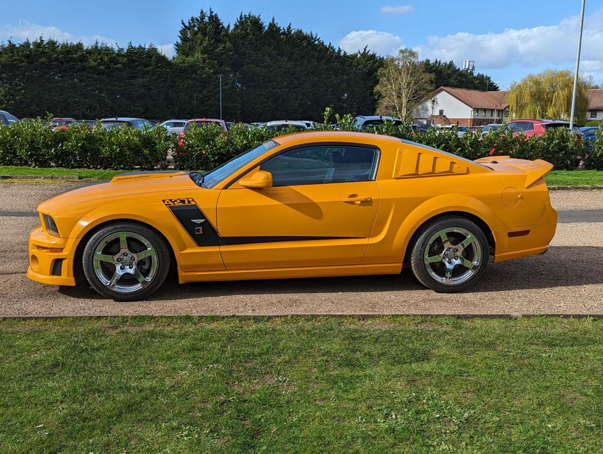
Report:
[{"label": "orange car's door with its dark window, excluding the side mirror", "polygon": [[223,189],[217,219],[226,268],[357,265],[379,203],[379,154],[365,145],[294,147],[253,169],[270,172],[272,187]]}]

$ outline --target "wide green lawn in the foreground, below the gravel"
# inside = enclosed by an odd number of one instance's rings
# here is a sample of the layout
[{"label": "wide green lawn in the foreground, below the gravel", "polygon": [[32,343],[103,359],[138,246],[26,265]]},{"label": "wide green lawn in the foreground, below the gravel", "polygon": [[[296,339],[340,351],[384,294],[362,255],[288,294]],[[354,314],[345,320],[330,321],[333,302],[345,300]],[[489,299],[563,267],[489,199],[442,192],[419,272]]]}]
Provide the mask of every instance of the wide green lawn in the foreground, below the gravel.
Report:
[{"label": "wide green lawn in the foreground, below the gravel", "polygon": [[0,452],[601,452],[603,321],[0,321]]}]

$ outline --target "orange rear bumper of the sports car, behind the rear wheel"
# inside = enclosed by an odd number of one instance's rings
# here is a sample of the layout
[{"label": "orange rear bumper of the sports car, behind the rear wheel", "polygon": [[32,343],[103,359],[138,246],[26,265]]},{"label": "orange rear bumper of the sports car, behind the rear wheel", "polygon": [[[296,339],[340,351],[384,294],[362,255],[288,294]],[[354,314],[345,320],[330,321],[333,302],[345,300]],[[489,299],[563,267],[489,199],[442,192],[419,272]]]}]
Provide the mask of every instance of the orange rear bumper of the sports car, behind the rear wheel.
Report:
[{"label": "orange rear bumper of the sports car, behind the rear wheel", "polygon": [[[551,206],[551,202],[547,202],[538,224],[494,230],[492,232],[496,244],[494,262],[544,254],[555,236],[557,218],[557,211]],[[509,236],[510,232],[520,230],[528,230],[529,233],[523,236]]]}]

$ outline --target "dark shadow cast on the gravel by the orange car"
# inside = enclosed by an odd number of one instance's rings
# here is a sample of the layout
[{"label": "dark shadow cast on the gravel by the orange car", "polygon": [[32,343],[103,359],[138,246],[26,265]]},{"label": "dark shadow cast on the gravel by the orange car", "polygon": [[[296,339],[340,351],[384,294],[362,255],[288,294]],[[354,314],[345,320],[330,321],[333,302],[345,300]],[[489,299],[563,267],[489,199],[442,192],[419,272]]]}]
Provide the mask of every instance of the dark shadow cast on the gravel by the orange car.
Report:
[{"label": "dark shadow cast on the gravel by the orange car", "polygon": [[[603,283],[601,260],[603,247],[555,246],[541,256],[508,262],[489,263],[481,282],[467,293],[496,292],[577,286]],[[62,294],[73,298],[101,299],[88,286],[61,287]],[[361,293],[426,291],[409,270],[401,276],[313,277],[303,279],[263,279],[220,282],[195,282],[178,285],[168,280],[147,301],[215,298],[233,295],[269,295],[303,293]]]}]

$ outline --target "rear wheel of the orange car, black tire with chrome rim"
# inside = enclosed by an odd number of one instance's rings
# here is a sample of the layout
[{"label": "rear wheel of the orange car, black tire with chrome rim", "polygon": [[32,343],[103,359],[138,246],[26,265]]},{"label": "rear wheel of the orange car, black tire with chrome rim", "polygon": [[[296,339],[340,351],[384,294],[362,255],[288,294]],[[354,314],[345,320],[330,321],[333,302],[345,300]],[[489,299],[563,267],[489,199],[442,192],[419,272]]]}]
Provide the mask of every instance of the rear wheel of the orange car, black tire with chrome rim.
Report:
[{"label": "rear wheel of the orange car, black tire with chrome rim", "polygon": [[[450,229],[450,232],[446,233],[446,235],[450,233],[448,249],[444,246],[444,241],[437,236],[438,232],[446,229]],[[473,235],[473,239],[468,242],[467,250],[458,252],[462,247],[459,242],[466,236],[466,232]],[[467,239],[469,240],[469,236]],[[476,245],[473,246],[473,244]],[[455,248],[455,245],[459,247]],[[426,254],[428,247],[429,250]],[[438,260],[436,257],[440,256],[441,259]],[[426,263],[427,257],[437,261]],[[489,259],[488,240],[482,229],[475,222],[460,216],[442,216],[423,225],[414,235],[409,253],[412,274],[421,284],[440,293],[462,292],[475,285],[484,274]],[[459,263],[461,261],[463,263]],[[478,265],[473,262],[478,262]],[[470,263],[473,267],[466,266],[464,263]],[[450,269],[449,266],[453,266],[450,277],[446,274]],[[431,273],[428,271],[428,267]],[[455,273],[458,273],[456,277]],[[437,280],[434,275],[443,281]],[[458,283],[454,282],[455,279],[458,280]]]}]

